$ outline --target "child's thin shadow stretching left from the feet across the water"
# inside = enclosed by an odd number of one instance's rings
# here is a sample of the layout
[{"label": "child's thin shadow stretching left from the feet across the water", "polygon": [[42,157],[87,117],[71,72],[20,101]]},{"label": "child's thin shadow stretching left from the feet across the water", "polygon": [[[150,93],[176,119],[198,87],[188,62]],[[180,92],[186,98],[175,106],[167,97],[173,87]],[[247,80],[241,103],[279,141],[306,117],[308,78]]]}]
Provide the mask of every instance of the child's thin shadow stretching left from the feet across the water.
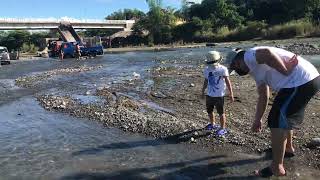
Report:
[{"label": "child's thin shadow stretching left from the feet across the water", "polygon": [[[197,134],[195,135],[195,132]],[[178,144],[181,142],[190,141],[190,138],[193,137],[194,139],[205,137],[210,135],[211,132],[205,131],[204,129],[195,129],[187,132],[183,132],[180,134],[168,136],[161,139],[153,139],[153,140],[146,140],[146,141],[135,141],[135,142],[119,142],[119,143],[111,143],[105,144],[98,147],[88,148],[81,151],[73,152],[73,156],[79,155],[89,155],[89,154],[98,154],[103,151],[107,150],[114,150],[114,149],[130,149],[136,147],[145,147],[145,146],[160,146],[165,144]]]}]

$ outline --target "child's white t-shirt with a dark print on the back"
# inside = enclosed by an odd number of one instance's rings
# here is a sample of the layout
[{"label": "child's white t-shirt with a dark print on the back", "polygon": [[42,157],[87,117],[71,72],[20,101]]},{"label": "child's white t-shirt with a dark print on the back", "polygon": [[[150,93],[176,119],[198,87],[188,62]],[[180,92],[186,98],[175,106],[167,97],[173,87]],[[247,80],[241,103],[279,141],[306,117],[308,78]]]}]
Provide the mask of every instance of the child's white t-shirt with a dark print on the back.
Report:
[{"label": "child's white t-shirt with a dark print on the back", "polygon": [[211,97],[223,97],[226,91],[224,77],[229,76],[228,69],[220,64],[217,66],[207,66],[203,74],[208,80],[207,95]]}]

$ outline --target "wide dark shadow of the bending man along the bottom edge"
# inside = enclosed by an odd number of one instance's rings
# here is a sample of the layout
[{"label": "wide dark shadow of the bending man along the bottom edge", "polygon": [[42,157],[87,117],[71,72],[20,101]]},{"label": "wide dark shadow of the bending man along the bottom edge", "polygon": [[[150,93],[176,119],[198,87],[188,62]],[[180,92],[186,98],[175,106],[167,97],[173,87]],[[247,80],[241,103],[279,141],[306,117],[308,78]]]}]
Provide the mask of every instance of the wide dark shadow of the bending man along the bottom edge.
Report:
[{"label": "wide dark shadow of the bending man along the bottom edge", "polygon": [[[232,162],[213,162],[224,156],[210,156],[192,161],[169,163],[150,168],[134,168],[115,173],[82,172],[62,177],[60,180],[102,179],[261,179],[253,175],[233,176],[227,167],[257,163],[260,159],[245,159]],[[205,161],[205,162],[202,162]],[[213,162],[213,163],[210,163]],[[201,163],[201,164],[200,164]],[[161,172],[168,172],[162,174]],[[244,170],[247,172],[246,170]],[[245,173],[244,173],[245,174]],[[149,175],[149,176],[148,176]],[[151,177],[150,177],[151,176]]]}]

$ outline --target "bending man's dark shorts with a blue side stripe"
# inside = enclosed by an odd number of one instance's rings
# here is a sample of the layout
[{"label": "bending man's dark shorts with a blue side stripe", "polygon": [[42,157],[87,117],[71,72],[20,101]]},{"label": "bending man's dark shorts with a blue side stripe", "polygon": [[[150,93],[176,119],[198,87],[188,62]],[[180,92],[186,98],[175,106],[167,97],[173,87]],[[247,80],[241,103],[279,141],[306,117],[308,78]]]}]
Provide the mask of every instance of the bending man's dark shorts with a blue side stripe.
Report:
[{"label": "bending man's dark shorts with a blue side stripe", "polygon": [[305,108],[320,89],[320,76],[294,88],[281,89],[274,99],[268,117],[270,128],[292,130],[303,121]]}]

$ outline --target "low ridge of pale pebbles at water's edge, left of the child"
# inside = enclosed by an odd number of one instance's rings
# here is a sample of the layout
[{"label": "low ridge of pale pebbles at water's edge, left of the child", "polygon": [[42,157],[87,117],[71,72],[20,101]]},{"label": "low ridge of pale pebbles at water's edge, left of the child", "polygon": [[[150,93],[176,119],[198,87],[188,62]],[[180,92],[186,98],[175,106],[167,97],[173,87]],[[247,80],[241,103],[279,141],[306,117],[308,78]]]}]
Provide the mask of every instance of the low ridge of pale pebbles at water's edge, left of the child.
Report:
[{"label": "low ridge of pale pebbles at water's edge, left of the child", "polygon": [[[100,90],[99,94],[107,90]],[[112,93],[111,93],[112,94]],[[175,117],[163,111],[146,107],[130,97],[117,95],[113,103],[104,105],[81,104],[70,97],[44,95],[38,97],[40,104],[47,110],[65,112],[76,117],[87,117],[101,121],[108,127],[117,127],[124,131],[138,132],[153,137],[167,137],[186,130],[204,126],[203,122]]]}]

